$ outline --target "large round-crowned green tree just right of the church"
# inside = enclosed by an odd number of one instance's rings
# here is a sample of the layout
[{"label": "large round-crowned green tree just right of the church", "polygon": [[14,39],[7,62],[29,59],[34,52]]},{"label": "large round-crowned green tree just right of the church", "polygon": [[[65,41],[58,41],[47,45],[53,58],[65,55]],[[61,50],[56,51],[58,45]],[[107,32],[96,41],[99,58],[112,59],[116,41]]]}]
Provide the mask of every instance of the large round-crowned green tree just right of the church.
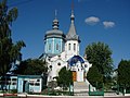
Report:
[{"label": "large round-crowned green tree just right of the church", "polygon": [[104,42],[93,42],[86,48],[87,59],[103,75],[105,83],[113,72],[112,50]]}]

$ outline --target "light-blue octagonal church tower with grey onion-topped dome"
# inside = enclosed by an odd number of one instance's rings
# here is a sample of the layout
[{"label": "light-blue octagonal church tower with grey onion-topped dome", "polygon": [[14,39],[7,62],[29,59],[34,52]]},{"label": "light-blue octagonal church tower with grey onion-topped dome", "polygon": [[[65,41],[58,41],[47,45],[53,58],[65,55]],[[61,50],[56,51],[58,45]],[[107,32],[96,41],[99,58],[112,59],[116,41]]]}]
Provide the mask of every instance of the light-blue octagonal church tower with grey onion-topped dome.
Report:
[{"label": "light-blue octagonal church tower with grey onion-topped dome", "polygon": [[58,29],[58,20],[55,19],[52,24],[52,29],[48,30],[44,36],[44,53],[48,57],[58,56],[64,50],[65,35]]}]

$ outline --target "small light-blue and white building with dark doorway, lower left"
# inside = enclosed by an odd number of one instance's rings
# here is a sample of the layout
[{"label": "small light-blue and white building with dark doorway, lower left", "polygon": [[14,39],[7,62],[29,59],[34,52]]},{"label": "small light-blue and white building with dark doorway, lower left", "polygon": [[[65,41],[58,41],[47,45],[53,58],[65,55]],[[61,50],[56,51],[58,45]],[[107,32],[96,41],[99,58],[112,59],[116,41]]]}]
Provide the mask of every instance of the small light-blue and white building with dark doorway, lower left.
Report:
[{"label": "small light-blue and white building with dark doorway, lower left", "polygon": [[18,75],[17,93],[41,93],[42,77],[41,75]]}]

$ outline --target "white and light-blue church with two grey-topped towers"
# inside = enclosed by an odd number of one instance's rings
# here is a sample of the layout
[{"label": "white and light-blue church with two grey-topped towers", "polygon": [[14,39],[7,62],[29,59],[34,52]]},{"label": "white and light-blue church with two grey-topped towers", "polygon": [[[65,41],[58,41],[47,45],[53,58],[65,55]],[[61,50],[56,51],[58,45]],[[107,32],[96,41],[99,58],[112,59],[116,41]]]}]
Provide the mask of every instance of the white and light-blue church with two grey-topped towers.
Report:
[{"label": "white and light-blue church with two grey-topped towers", "polygon": [[56,81],[62,68],[66,66],[73,71],[74,82],[88,82],[87,73],[92,66],[87,57],[79,54],[80,38],[75,27],[75,15],[72,10],[70,25],[68,33],[58,28],[58,20],[52,22],[52,29],[47,30],[44,35],[44,57],[48,63],[48,82]]}]

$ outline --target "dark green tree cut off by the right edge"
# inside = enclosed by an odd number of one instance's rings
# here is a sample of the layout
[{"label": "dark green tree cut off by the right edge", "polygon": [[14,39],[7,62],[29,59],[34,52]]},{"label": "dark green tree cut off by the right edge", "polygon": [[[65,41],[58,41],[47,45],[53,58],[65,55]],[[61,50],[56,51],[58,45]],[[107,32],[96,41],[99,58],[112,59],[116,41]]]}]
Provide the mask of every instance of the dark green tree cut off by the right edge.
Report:
[{"label": "dark green tree cut off by the right edge", "polygon": [[130,60],[121,60],[118,65],[118,84],[130,87]]}]

